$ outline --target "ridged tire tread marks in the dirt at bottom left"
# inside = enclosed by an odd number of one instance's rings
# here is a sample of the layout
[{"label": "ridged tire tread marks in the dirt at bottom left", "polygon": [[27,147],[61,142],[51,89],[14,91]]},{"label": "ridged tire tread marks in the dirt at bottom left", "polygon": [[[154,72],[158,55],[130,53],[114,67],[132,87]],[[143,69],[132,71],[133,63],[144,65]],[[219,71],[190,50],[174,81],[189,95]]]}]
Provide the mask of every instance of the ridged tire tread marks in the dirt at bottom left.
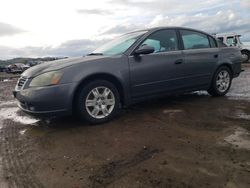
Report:
[{"label": "ridged tire tread marks in the dirt at bottom left", "polygon": [[3,175],[10,188],[42,188],[42,183],[35,176],[34,151],[31,139],[20,135],[20,130],[27,125],[16,125],[11,120],[4,120],[0,132],[0,153],[2,154]]}]

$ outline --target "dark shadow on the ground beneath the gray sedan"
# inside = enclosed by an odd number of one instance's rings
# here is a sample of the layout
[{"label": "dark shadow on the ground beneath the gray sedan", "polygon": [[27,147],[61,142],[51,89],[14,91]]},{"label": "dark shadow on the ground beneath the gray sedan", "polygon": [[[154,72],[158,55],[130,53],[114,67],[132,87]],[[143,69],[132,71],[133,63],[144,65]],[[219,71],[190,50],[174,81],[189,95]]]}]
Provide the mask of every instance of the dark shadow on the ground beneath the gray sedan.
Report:
[{"label": "dark shadow on the ground beneath the gray sedan", "polygon": [[[128,115],[137,115],[134,113],[143,113],[152,109],[161,109],[164,107],[168,107],[173,104],[183,104],[185,102],[193,102],[199,100],[208,100],[211,98],[207,93],[204,92],[194,92],[194,93],[186,93],[182,95],[161,97],[156,99],[151,99],[148,101],[140,102],[129,107],[126,107],[121,110],[121,113],[112,120],[113,123],[119,123],[123,121],[124,118]],[[128,117],[129,118],[129,117]],[[106,126],[110,122],[103,124],[90,124],[84,120],[80,120],[76,116],[65,116],[65,117],[53,117],[49,119],[40,119],[35,126],[36,127],[47,127],[47,128],[55,128],[55,129],[71,129],[77,127],[93,127],[93,126]]]}]

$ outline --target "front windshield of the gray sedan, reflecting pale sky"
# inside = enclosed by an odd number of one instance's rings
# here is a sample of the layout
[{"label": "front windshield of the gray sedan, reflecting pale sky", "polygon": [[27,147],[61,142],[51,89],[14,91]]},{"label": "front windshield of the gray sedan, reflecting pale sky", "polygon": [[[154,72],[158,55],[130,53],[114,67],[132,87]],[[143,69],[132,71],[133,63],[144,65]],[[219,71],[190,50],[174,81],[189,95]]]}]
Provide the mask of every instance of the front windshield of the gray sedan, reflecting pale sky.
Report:
[{"label": "front windshield of the gray sedan, reflecting pale sky", "polygon": [[96,49],[90,55],[119,55],[124,53],[147,31],[139,31],[122,35]]}]

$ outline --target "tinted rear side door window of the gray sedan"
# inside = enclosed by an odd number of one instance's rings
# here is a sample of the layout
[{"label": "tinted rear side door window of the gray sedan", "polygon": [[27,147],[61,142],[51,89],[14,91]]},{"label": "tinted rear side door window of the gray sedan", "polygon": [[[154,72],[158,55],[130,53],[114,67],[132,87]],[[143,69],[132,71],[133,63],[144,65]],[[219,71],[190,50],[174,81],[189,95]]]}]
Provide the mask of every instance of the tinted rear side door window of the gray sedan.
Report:
[{"label": "tinted rear side door window of the gray sedan", "polygon": [[184,49],[210,48],[208,36],[196,31],[180,30]]}]

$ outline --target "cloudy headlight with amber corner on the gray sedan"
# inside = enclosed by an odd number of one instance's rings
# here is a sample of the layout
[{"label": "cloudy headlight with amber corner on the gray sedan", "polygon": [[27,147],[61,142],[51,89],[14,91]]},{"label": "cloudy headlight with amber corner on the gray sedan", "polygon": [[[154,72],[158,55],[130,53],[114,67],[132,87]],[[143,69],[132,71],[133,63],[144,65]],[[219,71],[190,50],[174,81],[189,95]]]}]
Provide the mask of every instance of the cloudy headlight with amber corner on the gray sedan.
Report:
[{"label": "cloudy headlight with amber corner on the gray sedan", "polygon": [[51,71],[38,75],[29,84],[30,87],[57,85],[62,77],[61,71]]}]

